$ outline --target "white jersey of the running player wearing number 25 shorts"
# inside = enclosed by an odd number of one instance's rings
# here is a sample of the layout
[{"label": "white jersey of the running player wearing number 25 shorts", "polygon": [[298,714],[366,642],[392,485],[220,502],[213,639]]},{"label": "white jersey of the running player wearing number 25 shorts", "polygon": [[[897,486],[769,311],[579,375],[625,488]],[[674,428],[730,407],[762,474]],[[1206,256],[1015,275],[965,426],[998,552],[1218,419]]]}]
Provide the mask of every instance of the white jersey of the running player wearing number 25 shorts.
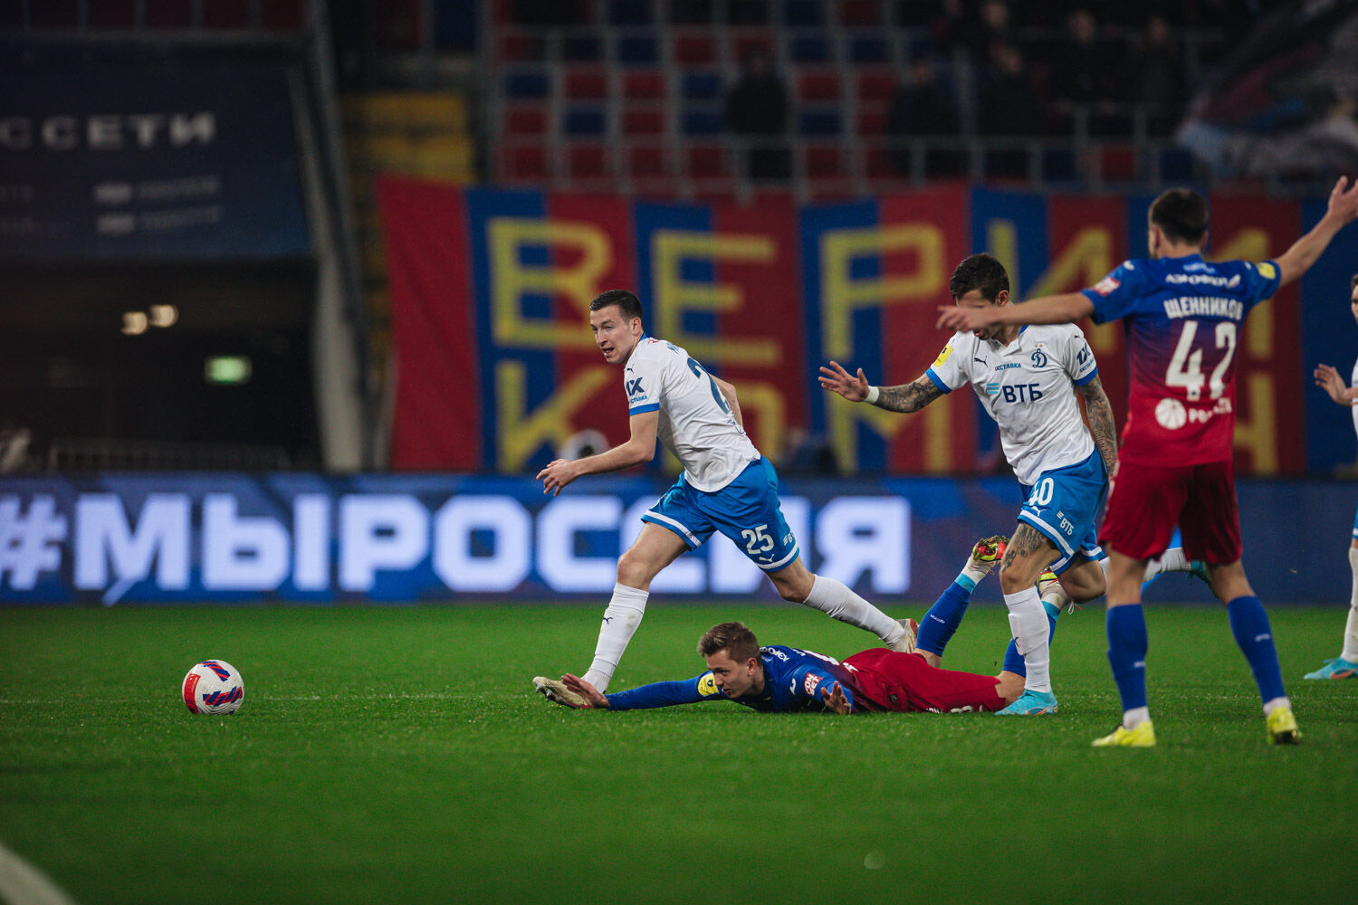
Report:
[{"label": "white jersey of the running player wearing number 25 shorts", "polygon": [[721,490],[759,459],[717,384],[679,346],[642,336],[622,377],[627,414],[660,411],[660,442],[683,465],[693,487]]}]

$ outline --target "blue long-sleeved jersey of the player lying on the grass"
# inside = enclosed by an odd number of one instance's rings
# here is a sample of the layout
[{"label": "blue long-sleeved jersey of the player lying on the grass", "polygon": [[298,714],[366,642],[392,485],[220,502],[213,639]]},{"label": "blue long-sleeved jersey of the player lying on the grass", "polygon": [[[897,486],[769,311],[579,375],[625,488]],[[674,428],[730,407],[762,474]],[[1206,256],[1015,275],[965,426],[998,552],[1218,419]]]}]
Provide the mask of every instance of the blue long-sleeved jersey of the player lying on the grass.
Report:
[{"label": "blue long-sleeved jersey of the player lying on the grass", "polygon": [[608,699],[611,710],[733,700],[758,711],[785,714],[799,710],[824,710],[822,688],[830,691],[835,682],[839,682],[849,706],[854,711],[858,710],[850,672],[834,657],[796,647],[771,646],[759,649],[759,659],[763,661],[765,687],[759,692],[750,692],[740,697],[727,697],[727,693],[717,688],[717,681],[710,672],[684,681],[640,685],[625,692],[604,695],[604,697]]}]

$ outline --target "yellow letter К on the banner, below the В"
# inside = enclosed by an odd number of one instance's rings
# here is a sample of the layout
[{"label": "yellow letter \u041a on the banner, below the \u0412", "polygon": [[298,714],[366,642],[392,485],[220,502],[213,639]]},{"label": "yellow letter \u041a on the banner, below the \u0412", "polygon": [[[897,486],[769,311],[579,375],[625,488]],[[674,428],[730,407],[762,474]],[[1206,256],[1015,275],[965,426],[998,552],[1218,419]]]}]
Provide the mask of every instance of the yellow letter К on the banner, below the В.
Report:
[{"label": "yellow letter \u041a on the banner, below the \u0412", "polygon": [[607,368],[585,368],[531,412],[527,408],[527,369],[523,362],[501,361],[496,365],[496,433],[500,437],[498,468],[515,472],[523,468],[534,450],[545,442],[562,444],[574,427],[570,417],[608,381]]}]

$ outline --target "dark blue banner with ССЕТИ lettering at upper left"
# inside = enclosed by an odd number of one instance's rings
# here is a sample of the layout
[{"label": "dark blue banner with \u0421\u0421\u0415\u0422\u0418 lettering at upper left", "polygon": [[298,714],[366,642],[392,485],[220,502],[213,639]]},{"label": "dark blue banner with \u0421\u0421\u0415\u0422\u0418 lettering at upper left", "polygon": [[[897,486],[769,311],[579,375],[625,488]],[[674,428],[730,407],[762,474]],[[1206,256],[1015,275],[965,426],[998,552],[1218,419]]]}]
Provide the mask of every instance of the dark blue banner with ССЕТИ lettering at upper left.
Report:
[{"label": "dark blue banner with \u0421\u0421\u0415\u0422\u0418 lettering at upper left", "polygon": [[288,61],[57,54],[0,64],[0,259],[310,254]]}]

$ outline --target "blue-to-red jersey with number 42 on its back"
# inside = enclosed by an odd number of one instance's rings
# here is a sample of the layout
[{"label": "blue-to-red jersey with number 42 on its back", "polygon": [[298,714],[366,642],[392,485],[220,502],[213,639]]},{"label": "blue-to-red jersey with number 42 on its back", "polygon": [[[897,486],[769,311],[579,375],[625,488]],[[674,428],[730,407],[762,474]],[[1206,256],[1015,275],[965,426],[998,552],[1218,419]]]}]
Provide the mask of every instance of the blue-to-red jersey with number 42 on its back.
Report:
[{"label": "blue-to-red jersey with number 42 on its back", "polygon": [[1232,457],[1240,327],[1278,290],[1271,261],[1202,255],[1124,261],[1084,294],[1095,323],[1122,320],[1131,389],[1123,461],[1196,465]]}]

